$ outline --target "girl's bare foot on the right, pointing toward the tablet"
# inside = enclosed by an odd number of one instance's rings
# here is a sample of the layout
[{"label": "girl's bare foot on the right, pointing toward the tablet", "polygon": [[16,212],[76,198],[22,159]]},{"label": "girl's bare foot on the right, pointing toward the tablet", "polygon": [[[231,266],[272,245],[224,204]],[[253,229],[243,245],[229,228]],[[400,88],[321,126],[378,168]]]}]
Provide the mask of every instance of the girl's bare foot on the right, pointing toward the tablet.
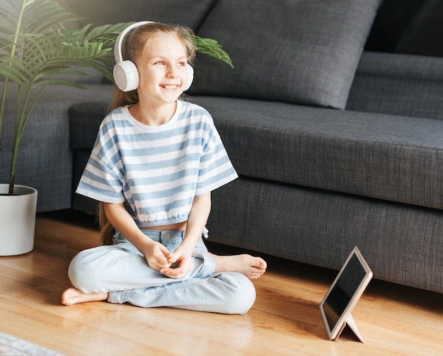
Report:
[{"label": "girl's bare foot on the right, pointing toward the tablet", "polygon": [[267,264],[263,258],[251,255],[220,256],[212,254],[215,261],[215,272],[240,272],[249,279],[261,277]]}]

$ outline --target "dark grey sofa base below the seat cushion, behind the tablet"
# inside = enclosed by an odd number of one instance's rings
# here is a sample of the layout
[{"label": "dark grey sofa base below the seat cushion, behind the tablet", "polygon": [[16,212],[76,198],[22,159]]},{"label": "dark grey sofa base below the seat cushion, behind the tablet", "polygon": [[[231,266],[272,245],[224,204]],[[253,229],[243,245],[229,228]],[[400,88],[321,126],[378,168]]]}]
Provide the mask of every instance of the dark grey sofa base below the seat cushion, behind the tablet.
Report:
[{"label": "dark grey sofa base below the seat cushion, behind the tablet", "polygon": [[443,293],[443,214],[241,177],[212,193],[209,241],[340,269],[358,246],[374,277]]}]

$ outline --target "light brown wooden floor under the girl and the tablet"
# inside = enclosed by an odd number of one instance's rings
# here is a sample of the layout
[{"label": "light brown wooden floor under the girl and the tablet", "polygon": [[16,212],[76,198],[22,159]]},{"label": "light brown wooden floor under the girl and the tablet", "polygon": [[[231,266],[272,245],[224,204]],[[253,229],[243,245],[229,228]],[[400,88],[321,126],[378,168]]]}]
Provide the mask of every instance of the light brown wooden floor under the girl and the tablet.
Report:
[{"label": "light brown wooden floor under the girl and the tablet", "polygon": [[76,356],[443,355],[441,294],[373,280],[352,313],[364,343],[330,341],[318,304],[336,271],[277,258],[267,258],[244,316],[106,302],[62,306],[69,261],[97,244],[91,217],[40,214],[34,251],[0,257],[0,331]]}]

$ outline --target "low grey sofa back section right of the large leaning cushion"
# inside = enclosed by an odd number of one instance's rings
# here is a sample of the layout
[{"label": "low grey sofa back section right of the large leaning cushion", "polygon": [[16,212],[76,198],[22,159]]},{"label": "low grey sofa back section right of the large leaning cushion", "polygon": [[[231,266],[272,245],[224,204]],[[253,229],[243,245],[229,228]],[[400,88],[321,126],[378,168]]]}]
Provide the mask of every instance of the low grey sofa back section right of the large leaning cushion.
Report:
[{"label": "low grey sofa back section right of the large leaning cushion", "polygon": [[347,110],[443,120],[443,58],[364,52]]}]

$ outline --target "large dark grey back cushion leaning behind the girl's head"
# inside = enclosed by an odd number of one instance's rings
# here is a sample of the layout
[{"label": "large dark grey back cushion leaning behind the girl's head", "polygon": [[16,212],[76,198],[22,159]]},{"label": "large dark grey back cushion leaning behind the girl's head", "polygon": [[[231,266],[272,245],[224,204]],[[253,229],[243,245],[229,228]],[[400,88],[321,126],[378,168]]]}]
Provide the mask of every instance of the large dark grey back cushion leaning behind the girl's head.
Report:
[{"label": "large dark grey back cushion leaning behind the girl's head", "polygon": [[379,0],[219,0],[197,32],[234,69],[199,56],[193,95],[345,108]]}]

